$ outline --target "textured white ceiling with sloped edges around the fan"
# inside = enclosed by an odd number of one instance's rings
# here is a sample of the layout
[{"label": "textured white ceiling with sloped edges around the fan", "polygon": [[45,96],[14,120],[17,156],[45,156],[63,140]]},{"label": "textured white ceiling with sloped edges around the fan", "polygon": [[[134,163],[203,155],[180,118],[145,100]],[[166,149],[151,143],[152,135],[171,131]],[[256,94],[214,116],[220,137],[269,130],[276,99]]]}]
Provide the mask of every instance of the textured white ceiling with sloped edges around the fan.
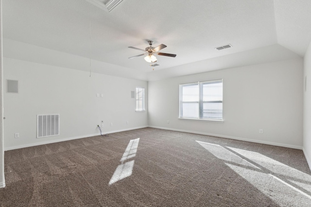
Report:
[{"label": "textured white ceiling with sloped edges around the fan", "polygon": [[[109,13],[86,0],[2,0],[2,10],[4,56],[82,70],[91,57],[93,71],[141,80],[295,58],[311,41],[310,0],[123,0]],[[155,71],[128,59],[147,40],[177,56],[157,56]]]}]

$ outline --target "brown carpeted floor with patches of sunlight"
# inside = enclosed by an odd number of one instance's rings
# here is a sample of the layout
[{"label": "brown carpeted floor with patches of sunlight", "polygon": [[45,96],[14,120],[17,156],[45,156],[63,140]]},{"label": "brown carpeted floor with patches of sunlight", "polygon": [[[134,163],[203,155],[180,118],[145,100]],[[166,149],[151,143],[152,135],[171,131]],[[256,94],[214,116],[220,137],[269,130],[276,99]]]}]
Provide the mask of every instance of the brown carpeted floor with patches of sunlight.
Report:
[{"label": "brown carpeted floor with patches of sunlight", "polygon": [[142,128],[5,152],[1,207],[311,207],[301,150]]}]

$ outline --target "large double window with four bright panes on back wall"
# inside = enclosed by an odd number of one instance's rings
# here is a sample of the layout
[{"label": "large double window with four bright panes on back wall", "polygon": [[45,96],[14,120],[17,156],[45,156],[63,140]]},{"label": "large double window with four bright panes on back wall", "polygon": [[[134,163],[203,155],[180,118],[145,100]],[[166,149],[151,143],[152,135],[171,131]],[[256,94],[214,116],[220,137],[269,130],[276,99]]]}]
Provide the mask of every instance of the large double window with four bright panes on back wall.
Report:
[{"label": "large double window with four bright panes on back wall", "polygon": [[179,118],[223,119],[223,80],[179,85]]}]

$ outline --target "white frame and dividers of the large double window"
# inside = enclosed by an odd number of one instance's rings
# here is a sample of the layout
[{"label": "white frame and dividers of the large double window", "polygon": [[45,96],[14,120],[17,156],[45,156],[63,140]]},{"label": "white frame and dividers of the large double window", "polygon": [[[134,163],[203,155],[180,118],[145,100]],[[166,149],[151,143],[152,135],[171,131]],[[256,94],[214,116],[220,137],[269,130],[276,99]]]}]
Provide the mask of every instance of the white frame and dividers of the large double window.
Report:
[{"label": "white frame and dividers of the large double window", "polygon": [[[204,118],[203,117],[203,104],[204,103],[223,103],[223,96],[222,100],[217,100],[217,101],[203,101],[203,85],[208,84],[208,83],[217,83],[221,82],[223,83],[223,80],[209,80],[209,81],[199,81],[199,82],[193,82],[193,83],[185,83],[185,84],[179,84],[179,119],[191,119],[191,120],[204,120],[204,121],[223,121],[224,117],[224,111],[222,108],[222,118]],[[199,86],[199,98],[198,101],[183,101],[183,87],[184,86],[191,86],[191,85],[198,85]],[[224,90],[224,88],[222,88]],[[183,104],[184,103],[197,103],[199,106],[199,113],[197,117],[186,117],[183,116]]]}]

